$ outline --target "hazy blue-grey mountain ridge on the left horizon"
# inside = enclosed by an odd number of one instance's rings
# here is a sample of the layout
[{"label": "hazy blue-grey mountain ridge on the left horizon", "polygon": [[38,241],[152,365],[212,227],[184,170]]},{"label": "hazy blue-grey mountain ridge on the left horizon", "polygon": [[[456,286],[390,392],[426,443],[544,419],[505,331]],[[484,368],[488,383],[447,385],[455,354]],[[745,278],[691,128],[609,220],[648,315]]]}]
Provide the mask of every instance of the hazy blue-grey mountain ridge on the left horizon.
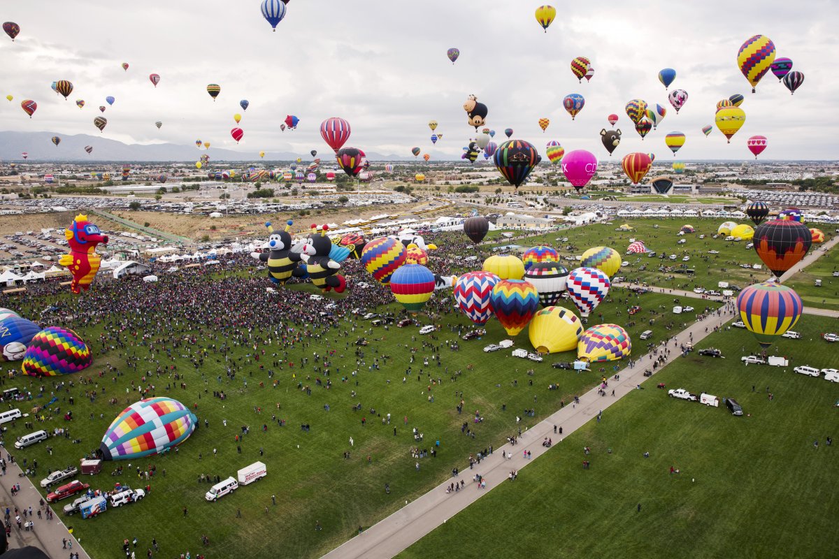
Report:
[{"label": "hazy blue-grey mountain ridge on the left horizon", "polygon": [[[55,147],[50,141],[53,136],[60,136],[61,143]],[[86,153],[85,146],[93,146],[93,153]],[[194,144],[179,146],[174,143],[153,145],[127,144],[87,134],[57,134],[55,132],[0,132],[0,159],[4,161],[22,161],[21,153],[29,153],[29,161],[196,161],[204,150],[198,150]],[[253,153],[239,153],[230,149],[210,148],[213,161],[253,161]],[[325,154],[326,155],[326,154]],[[297,153],[272,153],[274,161],[294,161],[300,157]],[[367,158],[376,161],[407,161],[395,155],[367,153]]]}]

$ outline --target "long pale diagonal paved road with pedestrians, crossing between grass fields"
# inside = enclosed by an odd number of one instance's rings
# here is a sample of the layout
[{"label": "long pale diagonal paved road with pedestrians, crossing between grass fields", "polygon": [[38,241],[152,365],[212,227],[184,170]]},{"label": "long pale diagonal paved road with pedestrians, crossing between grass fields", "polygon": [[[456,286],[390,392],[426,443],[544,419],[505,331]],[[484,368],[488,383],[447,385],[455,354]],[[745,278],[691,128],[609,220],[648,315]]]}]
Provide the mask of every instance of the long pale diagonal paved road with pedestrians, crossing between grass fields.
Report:
[{"label": "long pale diagonal paved road with pedestrians, crossing between grass fields", "polygon": [[[667,362],[669,363],[681,355],[678,350],[679,344],[700,341],[708,333],[713,332],[714,327],[722,326],[732,316],[733,307],[729,304],[727,308],[721,309],[719,315],[714,313],[711,317],[697,321],[676,334],[667,346],[671,350]],[[655,348],[659,353],[660,349],[660,345]],[[501,448],[496,448],[490,457],[483,460],[482,463],[476,464],[474,469],[462,469],[460,477],[446,479],[446,482],[422,495],[419,499],[405,505],[367,531],[362,532],[361,535],[353,537],[352,540],[330,551],[324,558],[388,559],[397,555],[413,544],[414,541],[420,540],[421,537],[437,526],[464,510],[466,506],[471,505],[487,491],[503,483],[505,479],[508,479],[510,470],[519,470],[526,467],[530,460],[524,458],[524,450],[529,450],[533,458],[539,457],[548,450],[548,448],[542,446],[545,437],[552,438],[555,444],[561,444],[562,437],[571,434],[586,422],[591,421],[592,418],[597,417],[598,411],[607,410],[622,396],[636,390],[637,386],[647,380],[644,377],[644,369],[652,369],[653,360],[653,354],[642,356],[633,368],[624,368],[618,372],[620,375],[619,381],[610,380],[608,386],[610,396],[598,396],[597,388],[591,389],[581,396],[579,405],[565,406],[534,427],[523,431],[519,443],[514,446],[508,443]],[[661,367],[658,370],[661,370]],[[569,371],[568,374],[573,373]],[[586,374],[599,375],[597,372]],[[652,378],[654,379],[654,377],[655,375]],[[654,383],[649,383],[649,386],[654,386]],[[611,396],[612,389],[615,391],[615,396]],[[554,433],[555,425],[562,427],[563,435]],[[512,453],[512,458],[502,458],[503,453]],[[477,483],[472,480],[474,474],[483,476],[483,479],[487,482],[487,489],[477,489]],[[466,488],[457,493],[446,494],[446,488],[449,484],[461,479],[466,479]]]}]

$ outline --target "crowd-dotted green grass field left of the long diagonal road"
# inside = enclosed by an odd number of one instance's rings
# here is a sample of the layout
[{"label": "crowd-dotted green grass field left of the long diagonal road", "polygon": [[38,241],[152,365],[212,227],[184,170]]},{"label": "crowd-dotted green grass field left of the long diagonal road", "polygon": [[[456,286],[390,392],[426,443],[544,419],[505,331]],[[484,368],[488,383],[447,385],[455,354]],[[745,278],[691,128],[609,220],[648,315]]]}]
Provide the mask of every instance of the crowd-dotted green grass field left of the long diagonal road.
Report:
[{"label": "crowd-dotted green grass field left of the long diagonal road", "polygon": [[[166,281],[166,277],[161,277],[161,283]],[[309,285],[288,288],[313,291]],[[347,299],[347,303],[349,301],[351,299]],[[51,302],[51,298],[45,298],[31,307],[23,305],[21,310],[25,316],[33,312],[30,308],[44,308]],[[602,314],[603,322],[624,324],[626,308],[631,304],[644,308],[642,313],[633,317],[636,324],[628,326],[631,336],[637,339],[644,329],[653,329],[654,339],[668,333],[667,326],[673,319],[666,309],[672,302],[664,295],[645,293],[638,297],[615,289],[596,314]],[[695,306],[698,310],[704,308],[704,305]],[[714,308],[713,305],[711,307]],[[396,305],[391,305],[391,308],[395,309]],[[620,315],[618,309],[621,310]],[[155,313],[164,312],[165,309],[147,309],[145,315],[150,325],[148,329],[138,329],[136,339],[142,340],[143,336],[157,339],[159,334],[151,324],[154,324]],[[650,319],[654,320],[652,326],[648,322]],[[680,321],[684,320],[682,315]],[[164,374],[159,378],[152,375],[149,381],[158,386],[154,391],[157,396],[172,396],[187,406],[197,404],[196,413],[201,422],[205,419],[209,422],[209,428],[202,423],[177,453],[122,462],[126,468],[130,463],[129,470],[138,466],[146,468],[149,464],[157,467],[158,475],[150,482],[152,491],[147,499],[119,510],[109,510],[92,520],[81,520],[75,516],[68,524],[74,526],[82,545],[96,558],[112,556],[126,537],[137,537],[139,549],[143,551],[151,538],[156,538],[161,546],[161,556],[175,556],[187,550],[195,555],[201,548],[200,538],[205,534],[211,539],[211,545],[206,550],[211,556],[276,556],[278,546],[284,550],[284,556],[319,556],[352,536],[358,525],[372,525],[398,509],[405,499],[414,499],[439,484],[446,479],[451,468],[462,468],[470,453],[503,443],[508,435],[513,434],[515,417],[524,417],[524,409],[534,407],[536,417],[526,419],[531,424],[538,422],[541,417],[555,411],[561,399],[567,401],[571,396],[586,391],[599,378],[597,372],[576,374],[550,367],[554,361],[573,360],[573,352],[551,355],[544,363],[513,358],[509,349],[483,353],[485,344],[508,338],[497,322],[488,325],[487,335],[482,340],[461,340],[459,351],[441,349],[442,366],[435,366],[433,361],[430,361],[431,366],[424,366],[423,358],[431,357],[432,353],[423,347],[423,342],[440,344],[447,339],[453,340],[456,335],[450,327],[470,324],[460,313],[444,315],[438,322],[443,328],[436,334],[435,340],[420,336],[416,329],[375,329],[362,320],[357,320],[355,332],[352,332],[352,323],[346,323],[339,334],[312,339],[305,350],[300,347],[289,350],[289,360],[297,366],[294,371],[288,368],[278,371],[275,378],[279,384],[274,388],[266,372],[259,370],[253,362],[246,365],[247,373],[240,373],[233,381],[227,380],[224,359],[212,351],[201,369],[195,370],[190,356],[185,354],[181,345],[173,352],[171,363],[177,365],[185,375],[184,379],[173,380]],[[592,324],[597,322],[599,318],[591,318]],[[97,339],[105,328],[103,323],[66,325],[76,329],[87,340]],[[357,367],[353,342],[359,336],[366,337],[371,345],[363,348],[366,364]],[[128,339],[135,338],[130,335]],[[217,343],[216,339],[199,341],[195,349],[212,343]],[[411,366],[406,344],[418,348],[413,364],[414,375],[404,373]],[[94,347],[99,345],[94,344]],[[516,346],[530,348],[526,330],[516,338]],[[276,343],[272,349],[282,352]],[[315,352],[326,355],[329,349],[335,349],[336,355],[331,358],[332,385],[327,390],[315,385],[317,375],[311,372],[311,365],[308,365],[308,372],[300,371],[300,360],[304,356],[311,358]],[[140,359],[136,372],[126,370],[124,360],[115,350],[97,356],[94,365],[83,375],[61,379],[72,380],[74,386],[59,392],[60,401],[56,406],[60,406],[60,413],[44,424],[36,423],[35,429],[51,431],[55,427],[70,427],[72,438],[80,438],[82,443],[73,444],[70,439],[56,437],[51,438],[49,443],[15,452],[18,463],[23,463],[24,458],[29,463],[38,461],[39,475],[33,479],[34,484],[37,485],[47,474],[48,468],[64,468],[67,464],[78,463],[84,453],[98,447],[112,418],[128,401],[136,401],[136,392],[128,394],[132,386],[130,383],[134,382],[135,386],[144,384],[140,376],[145,370],[154,370],[154,365],[144,360],[149,356],[149,349],[143,345],[130,347],[128,353]],[[250,353],[248,348],[237,346],[232,349],[230,357],[240,364],[247,364]],[[385,361],[382,355],[390,355],[391,358]],[[367,367],[375,357],[379,357],[381,370],[369,370]],[[268,355],[266,359],[268,362],[265,359],[263,362],[269,368],[270,360],[278,358]],[[108,364],[124,374],[114,377],[114,373],[106,370]],[[473,370],[468,370],[469,365],[474,365]],[[420,367],[424,371],[418,380],[416,371]],[[353,377],[350,372],[356,368],[359,372],[357,377]],[[456,370],[461,370],[462,374],[455,375]],[[533,370],[534,374],[527,375],[527,370]],[[99,376],[101,371],[102,376]],[[292,377],[293,372],[296,378]],[[218,376],[222,380],[216,380]],[[405,376],[407,378],[403,381]],[[91,379],[96,384],[81,385],[80,377]],[[341,377],[347,377],[347,381],[342,381]],[[441,384],[434,382],[431,385],[432,378],[436,380],[438,377]],[[530,380],[533,381],[532,386],[529,385]],[[181,381],[186,383],[187,390],[178,387]],[[298,390],[299,381],[312,387],[310,396]],[[260,382],[264,382],[265,386],[260,386]],[[552,382],[560,384],[559,391],[546,390]],[[42,384],[47,395],[57,390],[54,380],[42,382],[19,377],[7,380],[4,388],[19,386],[38,394]],[[171,389],[166,390],[170,384]],[[430,385],[435,396],[433,402],[428,400]],[[96,401],[86,400],[86,391],[94,389],[99,395]],[[213,398],[212,391],[216,390],[226,391],[229,396],[227,401]],[[352,396],[353,391],[356,396]],[[461,399],[461,391],[465,406],[462,415],[459,415],[456,404]],[[68,396],[76,399],[71,408],[76,418],[73,422],[65,422],[62,418],[70,407],[66,401]],[[538,396],[537,403],[534,403],[534,396]],[[117,397],[117,405],[108,404],[108,399],[112,397]],[[32,406],[43,405],[47,400],[48,396],[39,397],[34,401],[19,402],[18,407],[29,411]],[[362,405],[362,410],[352,411],[352,406],[357,403]],[[326,404],[330,406],[330,411],[325,410]],[[506,411],[503,411],[504,406]],[[262,408],[261,412],[256,411],[258,407]],[[372,409],[376,412],[373,413]],[[471,421],[476,410],[480,410],[484,417],[477,427]],[[391,424],[383,425],[382,417],[388,413],[392,417]],[[278,427],[272,421],[274,415],[284,418],[287,426]],[[361,424],[362,417],[367,418],[365,427]],[[407,425],[403,422],[404,417],[408,417]],[[227,427],[223,426],[224,420],[227,420]],[[474,438],[461,433],[463,422],[467,422],[470,429],[475,429]],[[261,430],[263,423],[268,425],[267,432]],[[301,423],[309,423],[311,431],[302,432]],[[242,447],[240,454],[237,453],[234,437],[245,425],[250,426],[251,431],[239,443]],[[394,427],[396,436],[393,435]],[[423,442],[414,441],[413,427],[425,433]],[[9,426],[5,434],[7,447],[11,448],[10,442],[14,437],[32,430],[24,427],[23,422]],[[353,437],[352,447],[350,437]],[[430,450],[436,440],[440,440],[436,458],[411,458],[410,448],[418,446]],[[51,456],[46,450],[48,445],[54,448]],[[260,454],[260,448],[263,454]],[[217,450],[217,454],[214,455],[213,449]],[[350,452],[351,458],[343,458],[344,452]],[[201,474],[219,475],[224,479],[235,476],[238,468],[257,460],[268,465],[266,479],[242,487],[216,503],[206,502],[204,494],[211,484],[201,483]],[[417,461],[421,466],[419,472],[414,468]],[[136,486],[149,483],[144,479],[138,480],[131,471],[120,478],[112,477],[110,472],[116,467],[117,463],[106,463],[102,474],[85,481],[94,488],[102,489],[111,488],[116,481]],[[165,477],[162,475],[164,469]],[[390,494],[383,491],[385,483],[390,485]],[[271,495],[276,496],[276,505],[272,504]],[[64,504],[61,502],[57,510]],[[184,507],[188,509],[186,518],[182,513]],[[241,510],[241,518],[237,517],[237,510]],[[322,531],[315,531],[318,521]]]}]

